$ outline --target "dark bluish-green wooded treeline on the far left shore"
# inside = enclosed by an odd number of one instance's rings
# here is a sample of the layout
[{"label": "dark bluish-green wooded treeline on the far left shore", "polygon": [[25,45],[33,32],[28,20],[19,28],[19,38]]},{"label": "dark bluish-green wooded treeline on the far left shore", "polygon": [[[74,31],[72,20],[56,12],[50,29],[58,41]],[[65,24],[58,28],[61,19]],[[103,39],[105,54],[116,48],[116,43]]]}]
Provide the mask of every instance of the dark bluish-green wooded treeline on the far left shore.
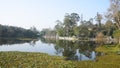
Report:
[{"label": "dark bluish-green wooded treeline on the far left shore", "polygon": [[39,32],[35,27],[24,29],[21,27],[6,26],[0,24],[0,37],[5,38],[34,38],[38,37]]}]

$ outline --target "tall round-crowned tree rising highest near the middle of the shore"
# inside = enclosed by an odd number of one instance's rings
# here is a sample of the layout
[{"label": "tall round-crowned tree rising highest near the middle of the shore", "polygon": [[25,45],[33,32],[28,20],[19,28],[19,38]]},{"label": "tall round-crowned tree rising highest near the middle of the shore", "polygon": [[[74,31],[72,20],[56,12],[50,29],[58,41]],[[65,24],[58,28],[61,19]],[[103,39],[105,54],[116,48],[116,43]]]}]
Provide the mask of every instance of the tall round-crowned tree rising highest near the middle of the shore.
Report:
[{"label": "tall round-crowned tree rising highest near the middle of the shore", "polygon": [[79,21],[80,17],[77,13],[66,14],[64,18],[64,28],[66,30],[66,36],[73,36],[74,30],[73,28],[77,26],[77,22]]}]

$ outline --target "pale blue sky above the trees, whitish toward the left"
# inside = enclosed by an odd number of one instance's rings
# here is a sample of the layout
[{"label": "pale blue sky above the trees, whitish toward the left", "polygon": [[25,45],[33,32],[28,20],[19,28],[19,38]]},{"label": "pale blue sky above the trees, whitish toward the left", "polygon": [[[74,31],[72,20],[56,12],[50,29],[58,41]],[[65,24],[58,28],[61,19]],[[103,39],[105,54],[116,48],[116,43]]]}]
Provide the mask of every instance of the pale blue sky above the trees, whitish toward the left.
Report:
[{"label": "pale blue sky above the trees, whitish toward the left", "polygon": [[38,30],[53,28],[66,13],[77,13],[83,19],[104,14],[109,0],[0,0],[0,24]]}]

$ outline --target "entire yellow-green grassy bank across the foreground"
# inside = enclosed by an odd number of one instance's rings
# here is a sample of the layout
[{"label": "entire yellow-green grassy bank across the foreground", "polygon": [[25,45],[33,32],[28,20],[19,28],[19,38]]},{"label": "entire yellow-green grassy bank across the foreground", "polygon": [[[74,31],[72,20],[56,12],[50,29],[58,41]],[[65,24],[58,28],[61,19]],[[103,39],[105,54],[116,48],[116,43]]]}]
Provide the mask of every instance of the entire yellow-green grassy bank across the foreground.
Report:
[{"label": "entire yellow-green grassy bank across the foreground", "polygon": [[43,53],[0,52],[1,68],[119,68],[120,55],[97,57],[97,61],[66,61]]}]

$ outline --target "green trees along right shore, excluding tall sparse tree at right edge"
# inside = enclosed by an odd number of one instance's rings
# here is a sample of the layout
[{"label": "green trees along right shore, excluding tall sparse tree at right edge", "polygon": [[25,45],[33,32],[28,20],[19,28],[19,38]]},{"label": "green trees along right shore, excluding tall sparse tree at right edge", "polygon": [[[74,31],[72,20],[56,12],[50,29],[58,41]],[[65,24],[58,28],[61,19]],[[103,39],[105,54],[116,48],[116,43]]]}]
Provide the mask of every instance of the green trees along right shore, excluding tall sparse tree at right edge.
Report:
[{"label": "green trees along right shore, excluding tall sparse tree at right edge", "polygon": [[[94,24],[94,20],[97,21],[96,24]],[[105,36],[112,36],[117,29],[111,20],[102,23],[102,15],[99,13],[95,19],[90,18],[89,20],[82,20],[82,16],[80,17],[77,13],[67,13],[63,22],[57,20],[56,23],[54,29],[43,29],[41,34],[43,36],[95,38],[100,33]]]}]

